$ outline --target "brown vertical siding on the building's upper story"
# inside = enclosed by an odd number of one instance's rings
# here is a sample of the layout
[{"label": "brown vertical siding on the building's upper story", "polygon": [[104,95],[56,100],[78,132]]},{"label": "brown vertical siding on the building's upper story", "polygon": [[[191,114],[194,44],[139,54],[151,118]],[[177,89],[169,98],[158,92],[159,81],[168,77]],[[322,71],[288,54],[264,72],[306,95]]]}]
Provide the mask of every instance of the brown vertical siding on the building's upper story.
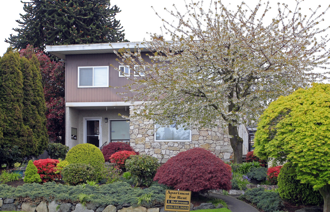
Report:
[{"label": "brown vertical siding on the building's upper story", "polygon": [[[114,53],[108,54],[80,54],[66,55],[65,70],[65,102],[117,102],[123,101],[117,92],[124,92],[125,89],[114,89],[113,87],[124,86],[129,80],[119,77],[114,67],[119,67]],[[144,56],[146,61],[150,61]],[[78,88],[78,67],[79,66],[109,66],[109,88]],[[132,71],[131,71],[132,72]],[[131,77],[133,77],[131,73]]]}]

